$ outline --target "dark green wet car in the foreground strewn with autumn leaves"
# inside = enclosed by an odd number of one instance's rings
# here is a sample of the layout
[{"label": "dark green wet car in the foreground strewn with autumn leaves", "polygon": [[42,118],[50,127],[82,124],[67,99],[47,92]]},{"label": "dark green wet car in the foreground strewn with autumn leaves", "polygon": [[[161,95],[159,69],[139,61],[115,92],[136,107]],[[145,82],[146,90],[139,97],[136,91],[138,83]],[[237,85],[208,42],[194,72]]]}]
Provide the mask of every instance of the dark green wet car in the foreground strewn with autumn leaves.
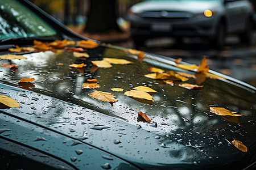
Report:
[{"label": "dark green wet car in the foreground strewn with autumn leaves", "polygon": [[255,168],[255,87],[86,41],[28,1],[0,11],[0,169]]}]

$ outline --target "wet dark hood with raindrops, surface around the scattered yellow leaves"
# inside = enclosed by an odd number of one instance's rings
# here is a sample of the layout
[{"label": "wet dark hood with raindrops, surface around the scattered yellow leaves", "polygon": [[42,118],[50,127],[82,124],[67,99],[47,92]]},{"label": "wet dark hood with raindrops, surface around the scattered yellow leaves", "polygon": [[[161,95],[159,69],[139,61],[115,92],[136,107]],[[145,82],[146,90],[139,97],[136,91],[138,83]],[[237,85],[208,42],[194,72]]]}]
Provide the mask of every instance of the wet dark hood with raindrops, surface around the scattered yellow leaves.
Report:
[{"label": "wet dark hood with raindrops, surface around the scattered yellow leaves", "polygon": [[[200,90],[188,90],[141,76],[152,66],[184,71],[172,65],[170,58],[146,54],[147,58],[138,62],[135,56],[113,46],[100,46],[88,50],[88,54],[90,58],[85,61],[71,53],[49,51],[23,55],[27,59],[0,60],[18,65],[15,73],[0,68],[0,94],[22,106],[0,112],[67,135],[77,143],[99,148],[144,169],[242,168],[255,161],[254,87],[221,75],[226,79],[207,78]],[[91,71],[90,60],[102,57],[123,58],[133,64]],[[86,63],[85,73],[69,67],[72,62]],[[16,82],[27,76],[36,79],[35,87],[24,90]],[[93,78],[100,80],[98,90],[112,92],[118,101],[112,105],[92,99],[88,94],[94,90],[81,88],[81,84]],[[189,79],[188,83],[195,80]],[[153,95],[155,101],[138,101],[110,90],[137,86],[158,91]],[[246,116],[237,124],[211,113],[207,106],[224,107]],[[153,123],[138,122],[138,109],[146,112]],[[1,124],[1,128],[8,127]],[[233,137],[242,141],[248,152],[234,147]]]}]

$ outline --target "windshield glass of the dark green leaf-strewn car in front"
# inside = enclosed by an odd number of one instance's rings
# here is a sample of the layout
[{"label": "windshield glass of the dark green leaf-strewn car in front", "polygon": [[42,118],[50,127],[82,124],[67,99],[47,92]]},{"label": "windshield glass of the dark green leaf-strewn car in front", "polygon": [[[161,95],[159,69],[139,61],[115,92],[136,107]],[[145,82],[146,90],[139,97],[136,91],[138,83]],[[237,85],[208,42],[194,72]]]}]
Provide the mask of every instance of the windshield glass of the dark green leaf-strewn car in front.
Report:
[{"label": "windshield glass of the dark green leaf-strewn car in front", "polygon": [[35,13],[14,0],[0,1],[0,39],[13,37],[44,37],[56,31]]}]

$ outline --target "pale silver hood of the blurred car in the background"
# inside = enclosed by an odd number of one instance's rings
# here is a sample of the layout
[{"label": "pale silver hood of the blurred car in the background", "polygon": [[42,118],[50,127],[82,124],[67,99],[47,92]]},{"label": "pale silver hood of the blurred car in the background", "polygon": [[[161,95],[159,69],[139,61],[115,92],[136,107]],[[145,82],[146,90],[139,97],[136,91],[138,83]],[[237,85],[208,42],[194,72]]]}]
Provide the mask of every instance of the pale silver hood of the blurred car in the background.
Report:
[{"label": "pale silver hood of the blurred car in the background", "polygon": [[137,3],[131,10],[135,13],[146,11],[183,11],[203,12],[204,10],[220,7],[221,1],[144,1]]}]

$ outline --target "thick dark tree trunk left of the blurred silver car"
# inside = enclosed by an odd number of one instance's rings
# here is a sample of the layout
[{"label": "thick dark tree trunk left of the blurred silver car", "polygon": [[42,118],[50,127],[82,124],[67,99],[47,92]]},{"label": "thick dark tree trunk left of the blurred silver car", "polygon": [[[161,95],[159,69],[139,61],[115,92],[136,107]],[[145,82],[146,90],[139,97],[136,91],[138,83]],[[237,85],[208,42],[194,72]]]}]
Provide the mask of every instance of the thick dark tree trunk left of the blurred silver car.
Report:
[{"label": "thick dark tree trunk left of the blurred silver car", "polygon": [[117,25],[115,0],[90,0],[89,3],[90,9],[85,32],[121,31]]}]

